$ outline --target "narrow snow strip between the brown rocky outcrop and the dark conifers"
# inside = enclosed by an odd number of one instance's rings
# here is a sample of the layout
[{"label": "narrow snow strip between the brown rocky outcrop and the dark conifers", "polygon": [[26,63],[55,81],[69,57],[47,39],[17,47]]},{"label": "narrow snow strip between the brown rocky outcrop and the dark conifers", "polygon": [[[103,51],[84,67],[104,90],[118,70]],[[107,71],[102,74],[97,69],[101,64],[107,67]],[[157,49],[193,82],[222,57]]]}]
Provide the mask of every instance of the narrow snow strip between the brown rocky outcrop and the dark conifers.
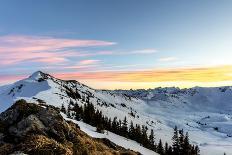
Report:
[{"label": "narrow snow strip between the brown rocky outcrop and the dark conifers", "polygon": [[104,134],[98,133],[98,132],[96,132],[96,127],[93,127],[93,126],[86,124],[84,122],[81,122],[81,121],[76,121],[76,120],[67,118],[66,115],[63,113],[61,113],[61,115],[63,116],[63,118],[65,120],[69,120],[69,121],[72,121],[72,122],[78,124],[80,126],[80,129],[91,137],[107,138],[110,141],[112,141],[113,143],[115,143],[121,147],[140,152],[143,155],[158,155],[158,153],[155,153],[154,151],[151,151],[151,150],[141,146],[139,143],[137,143],[133,140],[116,135],[116,134],[109,132],[109,131],[105,132]]}]

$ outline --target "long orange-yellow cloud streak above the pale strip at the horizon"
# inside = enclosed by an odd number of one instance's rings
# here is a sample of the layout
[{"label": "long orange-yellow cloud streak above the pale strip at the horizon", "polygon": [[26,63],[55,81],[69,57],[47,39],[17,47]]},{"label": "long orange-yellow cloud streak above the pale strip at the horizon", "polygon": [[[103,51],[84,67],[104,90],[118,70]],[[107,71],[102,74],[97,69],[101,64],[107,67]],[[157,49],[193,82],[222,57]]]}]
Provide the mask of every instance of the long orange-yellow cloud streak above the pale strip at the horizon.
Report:
[{"label": "long orange-yellow cloud streak above the pale strip at the horizon", "polygon": [[92,79],[119,82],[219,82],[232,81],[232,66],[154,69],[144,71],[103,71],[56,74],[64,79]]}]

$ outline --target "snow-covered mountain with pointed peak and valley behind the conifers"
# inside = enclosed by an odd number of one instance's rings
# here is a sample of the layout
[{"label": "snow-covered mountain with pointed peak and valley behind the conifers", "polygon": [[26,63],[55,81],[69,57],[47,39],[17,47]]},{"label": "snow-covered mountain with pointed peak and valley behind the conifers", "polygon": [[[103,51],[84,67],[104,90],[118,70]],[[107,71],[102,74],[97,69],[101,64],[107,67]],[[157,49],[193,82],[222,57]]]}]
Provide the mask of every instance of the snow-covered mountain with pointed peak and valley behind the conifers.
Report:
[{"label": "snow-covered mountain with pointed peak and valley behind the conifers", "polygon": [[171,144],[173,127],[183,128],[201,154],[232,154],[232,87],[148,90],[95,90],[77,81],[64,81],[43,72],[0,87],[0,112],[16,100],[68,106],[70,100],[91,103],[110,118],[147,125],[156,139]]}]

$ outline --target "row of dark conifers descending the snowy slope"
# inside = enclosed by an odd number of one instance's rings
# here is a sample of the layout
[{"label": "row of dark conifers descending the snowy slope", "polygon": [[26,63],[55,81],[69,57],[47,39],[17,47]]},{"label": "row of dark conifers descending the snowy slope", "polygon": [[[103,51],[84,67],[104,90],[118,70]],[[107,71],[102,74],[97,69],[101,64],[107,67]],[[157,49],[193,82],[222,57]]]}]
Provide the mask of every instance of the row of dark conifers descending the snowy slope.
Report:
[{"label": "row of dark conifers descending the snowy slope", "polygon": [[128,122],[125,117],[123,120],[114,117],[112,120],[104,116],[101,111],[96,110],[94,105],[86,99],[86,104],[79,106],[77,103],[70,101],[68,108],[61,106],[61,112],[65,113],[69,118],[74,118],[78,121],[90,124],[96,127],[96,131],[103,133],[108,130],[117,135],[129,138],[140,143],[143,147],[153,150],[160,155],[199,155],[200,150],[196,145],[191,145],[189,142],[188,132],[184,133],[183,129],[178,130],[174,128],[172,137],[173,144],[168,145],[166,142],[163,145],[161,139],[155,141],[154,131],[151,129],[148,132],[148,127],[134,124],[132,121]]}]

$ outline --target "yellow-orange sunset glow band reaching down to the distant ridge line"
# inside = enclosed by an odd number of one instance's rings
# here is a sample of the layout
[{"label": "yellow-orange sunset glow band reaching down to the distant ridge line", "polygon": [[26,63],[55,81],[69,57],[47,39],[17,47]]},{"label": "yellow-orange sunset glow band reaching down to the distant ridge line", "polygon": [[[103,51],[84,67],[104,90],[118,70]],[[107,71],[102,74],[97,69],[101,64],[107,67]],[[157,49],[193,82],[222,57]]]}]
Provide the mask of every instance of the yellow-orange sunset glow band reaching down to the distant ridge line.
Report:
[{"label": "yellow-orange sunset glow band reaching down to the distant ridge line", "polygon": [[153,69],[129,72],[73,72],[56,73],[54,75],[62,79],[78,79],[99,89],[136,89],[159,86],[186,88],[232,85],[232,66]]}]

